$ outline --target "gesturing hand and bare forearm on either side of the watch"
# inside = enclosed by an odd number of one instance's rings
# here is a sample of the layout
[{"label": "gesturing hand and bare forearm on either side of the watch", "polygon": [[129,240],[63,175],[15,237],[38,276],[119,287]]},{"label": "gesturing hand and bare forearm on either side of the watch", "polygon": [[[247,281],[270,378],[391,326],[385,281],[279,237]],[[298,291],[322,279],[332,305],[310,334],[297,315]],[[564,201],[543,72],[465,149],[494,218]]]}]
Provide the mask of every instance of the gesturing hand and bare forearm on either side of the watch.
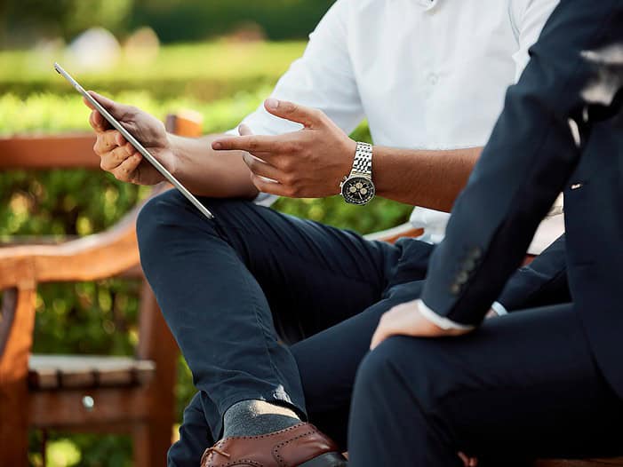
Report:
[{"label": "gesturing hand and bare forearm on either side of the watch", "polygon": [[[338,194],[353,167],[356,143],[323,112],[294,102],[268,99],[271,115],[303,129],[278,136],[220,138],[212,148],[242,150],[255,186],[262,192],[296,198]],[[423,151],[374,146],[372,178],[377,194],[436,210],[450,211],[481,154],[481,148]],[[277,183],[267,183],[265,179]]]}]

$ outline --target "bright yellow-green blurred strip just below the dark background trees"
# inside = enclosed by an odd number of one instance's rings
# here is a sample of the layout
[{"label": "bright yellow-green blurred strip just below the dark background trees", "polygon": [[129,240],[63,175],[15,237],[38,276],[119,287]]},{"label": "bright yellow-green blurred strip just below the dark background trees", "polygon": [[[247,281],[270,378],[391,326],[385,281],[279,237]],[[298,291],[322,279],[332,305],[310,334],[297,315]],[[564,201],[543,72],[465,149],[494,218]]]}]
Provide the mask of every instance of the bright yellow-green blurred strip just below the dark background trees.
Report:
[{"label": "bright yellow-green blurred strip just below the dark background trees", "polygon": [[68,83],[52,73],[52,63],[59,61],[87,89],[149,90],[157,99],[222,99],[276,83],[304,47],[302,42],[176,44],[161,48],[147,64],[124,55],[115,67],[98,72],[81,72],[73,66],[71,55],[62,51],[4,51],[0,53],[0,95],[25,98],[53,92],[74,97]]}]

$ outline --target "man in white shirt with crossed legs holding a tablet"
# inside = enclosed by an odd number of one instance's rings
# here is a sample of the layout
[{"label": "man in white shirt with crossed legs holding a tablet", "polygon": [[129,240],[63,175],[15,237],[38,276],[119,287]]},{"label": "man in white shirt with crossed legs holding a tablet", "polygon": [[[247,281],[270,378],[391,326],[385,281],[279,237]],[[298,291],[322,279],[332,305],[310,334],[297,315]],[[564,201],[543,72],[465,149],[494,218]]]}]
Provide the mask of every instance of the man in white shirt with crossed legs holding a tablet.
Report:
[{"label": "man in white shirt with crossed legs holding a tablet", "polygon": [[[347,400],[350,373],[364,349],[346,342],[334,358],[348,360],[350,369],[321,380],[300,370],[325,364],[315,360],[317,341],[306,337],[404,301],[401,286],[425,277],[431,247],[416,240],[395,246],[365,241],[260,204],[271,202],[271,194],[320,197],[347,186],[359,196],[351,202],[367,202],[376,192],[450,210],[491,133],[504,91],[520,75],[555,4],[338,0],[272,99],[244,119],[246,144],[281,145],[268,151],[251,146],[252,155],[212,150],[211,144],[220,150],[232,144],[219,135],[166,135],[154,117],[97,97],[215,214],[206,221],[169,192],[148,203],[138,225],[143,268],[200,390],[171,465],[196,465],[198,453],[221,437],[206,451],[205,465],[267,448],[240,436],[296,447],[288,438],[293,432],[303,431],[297,439],[319,436],[300,423],[306,408],[313,422],[344,438],[343,427],[333,424],[344,425],[346,417],[336,414],[331,398]],[[347,138],[363,118],[373,148]],[[161,181],[99,114],[92,113],[91,123],[104,170],[133,183]],[[276,135],[284,136],[270,139]],[[340,183],[353,174],[364,179]],[[418,209],[412,221],[427,228],[427,240],[443,236],[442,214]],[[375,326],[367,323],[362,332],[371,335]],[[346,382],[338,395],[328,380],[340,376]],[[327,413],[331,421],[324,423]],[[310,443],[315,448],[306,459],[284,462],[342,464],[330,441]]]}]

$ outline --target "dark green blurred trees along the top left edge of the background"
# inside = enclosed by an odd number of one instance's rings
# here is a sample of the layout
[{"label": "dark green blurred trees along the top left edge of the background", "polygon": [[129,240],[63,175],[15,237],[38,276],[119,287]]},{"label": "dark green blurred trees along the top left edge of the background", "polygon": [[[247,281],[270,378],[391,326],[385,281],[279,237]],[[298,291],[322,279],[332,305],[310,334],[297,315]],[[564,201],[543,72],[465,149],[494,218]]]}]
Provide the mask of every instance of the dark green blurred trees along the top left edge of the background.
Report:
[{"label": "dark green blurred trees along the top left edge of the background", "polygon": [[74,38],[100,26],[124,37],[149,26],[164,43],[205,40],[236,29],[271,40],[300,39],[334,0],[4,0],[0,47]]}]

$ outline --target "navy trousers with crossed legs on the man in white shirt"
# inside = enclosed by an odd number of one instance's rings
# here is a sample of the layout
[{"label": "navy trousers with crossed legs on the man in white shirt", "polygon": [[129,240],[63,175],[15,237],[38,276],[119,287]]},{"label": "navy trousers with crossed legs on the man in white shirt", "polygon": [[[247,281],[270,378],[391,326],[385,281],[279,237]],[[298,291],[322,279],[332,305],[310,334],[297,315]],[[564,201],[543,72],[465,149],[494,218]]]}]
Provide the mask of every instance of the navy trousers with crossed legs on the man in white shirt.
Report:
[{"label": "navy trousers with crossed legs on the man in white shirt", "polygon": [[240,400],[291,407],[345,447],[356,368],[380,315],[419,296],[432,247],[201,201],[214,219],[172,190],[137,224],[143,270],[199,391],[169,465],[196,467]]}]

